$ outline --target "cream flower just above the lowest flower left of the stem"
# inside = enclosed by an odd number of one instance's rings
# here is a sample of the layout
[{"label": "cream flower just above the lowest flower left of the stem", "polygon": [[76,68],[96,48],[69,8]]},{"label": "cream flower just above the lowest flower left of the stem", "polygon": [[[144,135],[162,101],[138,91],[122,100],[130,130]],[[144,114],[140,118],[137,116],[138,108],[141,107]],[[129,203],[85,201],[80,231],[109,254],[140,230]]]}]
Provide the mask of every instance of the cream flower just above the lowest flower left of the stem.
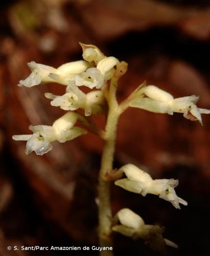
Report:
[{"label": "cream flower just above the lowest flower left of the stem", "polygon": [[85,115],[101,114],[105,112],[106,101],[102,91],[83,93],[74,83],[69,84],[62,96],[45,93],[46,98],[52,99],[52,106],[60,106],[63,110],[84,109]]}]

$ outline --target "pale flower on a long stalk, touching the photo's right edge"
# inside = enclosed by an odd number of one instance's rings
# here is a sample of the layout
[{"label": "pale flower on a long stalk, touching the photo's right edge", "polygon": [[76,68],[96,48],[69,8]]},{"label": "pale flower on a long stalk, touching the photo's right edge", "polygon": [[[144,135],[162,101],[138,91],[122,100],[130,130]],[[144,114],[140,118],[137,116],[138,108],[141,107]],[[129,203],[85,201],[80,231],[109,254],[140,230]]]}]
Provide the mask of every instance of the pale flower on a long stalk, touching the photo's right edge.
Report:
[{"label": "pale flower on a long stalk, touching the photo's right edge", "polygon": [[139,97],[131,101],[129,105],[134,108],[144,109],[154,113],[167,113],[169,115],[173,115],[174,112],[183,113],[186,119],[192,121],[198,120],[201,124],[201,114],[210,114],[210,110],[200,109],[196,106],[199,99],[196,95],[174,99],[171,94],[155,86],[144,87],[139,92],[145,95],[146,98]]}]

